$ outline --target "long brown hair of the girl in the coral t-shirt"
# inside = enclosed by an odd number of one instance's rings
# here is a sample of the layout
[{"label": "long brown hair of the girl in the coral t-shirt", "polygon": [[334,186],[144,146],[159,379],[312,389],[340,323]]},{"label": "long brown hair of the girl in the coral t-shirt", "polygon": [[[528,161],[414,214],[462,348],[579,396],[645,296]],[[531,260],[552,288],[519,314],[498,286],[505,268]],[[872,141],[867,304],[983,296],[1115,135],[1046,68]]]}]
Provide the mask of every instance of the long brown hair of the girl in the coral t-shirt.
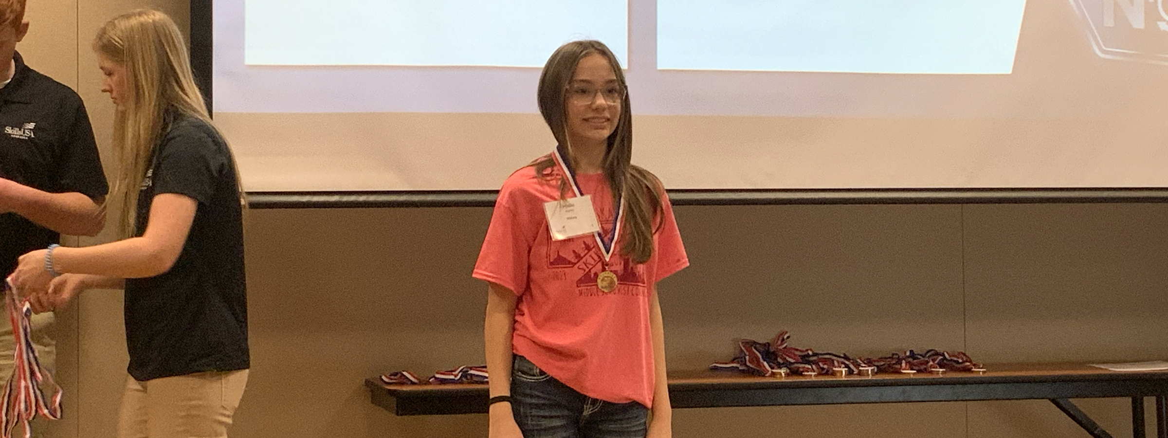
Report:
[{"label": "long brown hair of the girl in the coral t-shirt", "polygon": [[[599,54],[609,60],[609,65],[617,75],[620,86],[627,90],[625,74],[620,70],[617,56],[604,43],[593,40],[572,41],[556,49],[548,63],[543,65],[540,76],[540,113],[551,128],[556,142],[568,150],[565,160],[571,160],[571,144],[568,141],[568,106],[565,89],[576,74],[576,65],[585,56]],[[620,103],[620,118],[617,128],[609,135],[604,154],[604,176],[612,189],[612,199],[624,197],[625,218],[621,225],[620,252],[630,256],[634,263],[648,262],[653,256],[653,232],[662,223],[661,181],[649,171],[634,166],[633,155],[633,116],[628,103],[628,92]],[[552,158],[545,157],[534,164],[536,175],[545,175],[545,171],[555,166]],[[559,193],[563,195],[566,181],[561,179]],[[617,206],[619,208],[619,206]],[[654,223],[656,220],[656,223]]]}]

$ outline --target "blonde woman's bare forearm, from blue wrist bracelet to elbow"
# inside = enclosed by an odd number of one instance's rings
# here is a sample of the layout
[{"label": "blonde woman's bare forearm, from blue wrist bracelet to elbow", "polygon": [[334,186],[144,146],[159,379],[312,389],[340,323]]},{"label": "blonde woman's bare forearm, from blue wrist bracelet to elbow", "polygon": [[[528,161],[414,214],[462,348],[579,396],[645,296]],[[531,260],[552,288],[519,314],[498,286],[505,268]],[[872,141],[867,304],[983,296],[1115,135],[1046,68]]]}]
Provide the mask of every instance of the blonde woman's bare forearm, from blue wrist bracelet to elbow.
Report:
[{"label": "blonde woman's bare forearm, from blue wrist bracelet to elbow", "polygon": [[89,273],[113,278],[154,277],[174,264],[166,248],[142,237],[85,248],[57,248],[53,266],[58,273]]}]

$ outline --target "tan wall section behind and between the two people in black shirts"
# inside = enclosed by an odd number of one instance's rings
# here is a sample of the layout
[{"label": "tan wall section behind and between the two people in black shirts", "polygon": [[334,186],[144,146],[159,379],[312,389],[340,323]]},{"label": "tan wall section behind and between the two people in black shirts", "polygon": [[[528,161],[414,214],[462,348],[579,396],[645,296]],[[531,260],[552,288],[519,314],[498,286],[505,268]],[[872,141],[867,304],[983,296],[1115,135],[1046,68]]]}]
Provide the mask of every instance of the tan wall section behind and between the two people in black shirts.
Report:
[{"label": "tan wall section behind and between the two people in black shirts", "polygon": [[[100,75],[90,41],[106,20],[139,7],[159,8],[187,28],[186,0],[28,0],[29,33],[18,46],[30,67],[77,90],[85,100],[106,174],[113,171],[113,105],[99,91]],[[64,242],[93,244],[110,239],[106,229],[96,238],[67,237]],[[65,390],[65,413],[60,422],[39,424],[50,437],[112,437],[127,361],[121,294],[83,294],[74,308],[58,312],[57,320],[57,378]]]}]

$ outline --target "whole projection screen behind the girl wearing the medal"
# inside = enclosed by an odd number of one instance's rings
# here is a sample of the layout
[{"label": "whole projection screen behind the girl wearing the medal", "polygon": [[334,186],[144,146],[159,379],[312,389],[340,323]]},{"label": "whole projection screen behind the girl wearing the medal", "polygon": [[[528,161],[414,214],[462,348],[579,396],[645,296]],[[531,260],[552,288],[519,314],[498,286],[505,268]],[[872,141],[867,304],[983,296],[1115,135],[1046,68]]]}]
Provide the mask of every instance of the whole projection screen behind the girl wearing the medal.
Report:
[{"label": "whole projection screen behind the girl wearing the medal", "polygon": [[672,189],[1163,188],[1164,2],[215,0],[213,112],[249,192],[492,190],[597,39]]}]

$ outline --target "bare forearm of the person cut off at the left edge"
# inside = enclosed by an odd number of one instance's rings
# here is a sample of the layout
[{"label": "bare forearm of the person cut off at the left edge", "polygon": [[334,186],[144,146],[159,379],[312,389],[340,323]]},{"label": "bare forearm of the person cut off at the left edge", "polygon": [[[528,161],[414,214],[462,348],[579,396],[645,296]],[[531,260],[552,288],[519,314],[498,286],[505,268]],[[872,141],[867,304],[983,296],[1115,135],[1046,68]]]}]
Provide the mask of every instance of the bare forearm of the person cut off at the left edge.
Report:
[{"label": "bare forearm of the person cut off at the left edge", "polygon": [[0,179],[0,202],[4,210],[61,234],[96,236],[105,227],[100,200],[76,192],[48,193]]}]

